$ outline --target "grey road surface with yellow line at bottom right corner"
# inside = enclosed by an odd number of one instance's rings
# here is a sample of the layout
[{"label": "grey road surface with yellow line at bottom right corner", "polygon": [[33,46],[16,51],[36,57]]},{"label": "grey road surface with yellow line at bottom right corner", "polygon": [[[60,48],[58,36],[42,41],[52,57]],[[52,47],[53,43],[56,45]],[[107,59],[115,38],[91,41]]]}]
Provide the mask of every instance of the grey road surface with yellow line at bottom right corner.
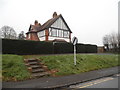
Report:
[{"label": "grey road surface with yellow line at bottom right corner", "polygon": [[72,85],[70,88],[118,88],[118,78],[120,74]]}]

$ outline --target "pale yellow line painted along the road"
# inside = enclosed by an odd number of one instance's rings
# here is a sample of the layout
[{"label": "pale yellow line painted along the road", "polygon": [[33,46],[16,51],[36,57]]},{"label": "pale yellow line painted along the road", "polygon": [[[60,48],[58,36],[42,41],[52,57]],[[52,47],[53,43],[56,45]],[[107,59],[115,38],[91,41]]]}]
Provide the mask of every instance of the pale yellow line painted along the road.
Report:
[{"label": "pale yellow line painted along the road", "polygon": [[105,82],[105,81],[109,81],[109,80],[112,80],[112,79],[114,79],[114,78],[108,77],[108,78],[92,81],[92,82],[89,82],[89,83],[85,83],[85,84],[79,85],[77,87],[78,88],[85,88],[85,87],[89,87],[89,86],[92,86],[92,85],[95,85],[95,84],[99,84],[99,83],[102,83],[102,82]]}]

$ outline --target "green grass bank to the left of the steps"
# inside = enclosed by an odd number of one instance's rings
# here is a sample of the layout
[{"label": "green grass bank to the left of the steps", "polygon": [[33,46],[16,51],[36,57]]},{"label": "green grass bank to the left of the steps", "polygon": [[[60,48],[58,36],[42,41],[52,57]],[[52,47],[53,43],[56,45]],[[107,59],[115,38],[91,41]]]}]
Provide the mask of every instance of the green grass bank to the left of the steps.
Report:
[{"label": "green grass bank to the left of the steps", "polygon": [[19,55],[2,55],[3,81],[17,81],[30,78],[30,73],[24,64],[24,58]]}]

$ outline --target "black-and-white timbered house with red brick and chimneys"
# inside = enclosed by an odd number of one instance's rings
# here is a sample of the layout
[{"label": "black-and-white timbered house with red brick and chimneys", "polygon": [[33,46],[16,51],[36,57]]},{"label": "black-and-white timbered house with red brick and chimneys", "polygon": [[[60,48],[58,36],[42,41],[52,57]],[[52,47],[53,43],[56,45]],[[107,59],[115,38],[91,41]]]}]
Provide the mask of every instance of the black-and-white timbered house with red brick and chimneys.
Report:
[{"label": "black-and-white timbered house with red brick and chimneys", "polygon": [[53,17],[43,25],[35,20],[34,25],[30,25],[26,33],[27,40],[35,41],[53,41],[53,42],[71,42],[71,33],[69,26],[63,16],[53,13]]}]

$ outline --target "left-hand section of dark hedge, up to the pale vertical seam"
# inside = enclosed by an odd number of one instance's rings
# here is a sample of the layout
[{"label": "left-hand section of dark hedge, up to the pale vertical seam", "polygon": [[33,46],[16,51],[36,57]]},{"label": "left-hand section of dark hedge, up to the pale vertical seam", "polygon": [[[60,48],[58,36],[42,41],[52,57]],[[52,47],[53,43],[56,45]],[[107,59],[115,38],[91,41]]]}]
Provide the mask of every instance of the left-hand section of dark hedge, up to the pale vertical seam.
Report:
[{"label": "left-hand section of dark hedge, up to the pale vertical seam", "polygon": [[53,43],[2,39],[3,54],[53,54]]}]

